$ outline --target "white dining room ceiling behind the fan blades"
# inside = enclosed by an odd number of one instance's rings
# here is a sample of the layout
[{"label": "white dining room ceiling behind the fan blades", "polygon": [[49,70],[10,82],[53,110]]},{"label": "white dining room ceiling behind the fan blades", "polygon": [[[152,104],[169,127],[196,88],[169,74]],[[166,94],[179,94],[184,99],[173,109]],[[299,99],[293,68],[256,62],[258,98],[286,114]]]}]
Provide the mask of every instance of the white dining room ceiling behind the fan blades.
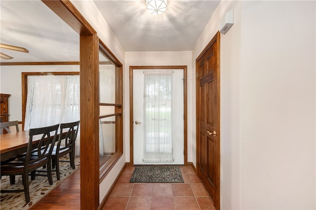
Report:
[{"label": "white dining room ceiling behind the fan blades", "polygon": [[79,35],[39,0],[0,0],[0,43],[29,53],[0,48],[13,59],[1,62],[79,61]]}]

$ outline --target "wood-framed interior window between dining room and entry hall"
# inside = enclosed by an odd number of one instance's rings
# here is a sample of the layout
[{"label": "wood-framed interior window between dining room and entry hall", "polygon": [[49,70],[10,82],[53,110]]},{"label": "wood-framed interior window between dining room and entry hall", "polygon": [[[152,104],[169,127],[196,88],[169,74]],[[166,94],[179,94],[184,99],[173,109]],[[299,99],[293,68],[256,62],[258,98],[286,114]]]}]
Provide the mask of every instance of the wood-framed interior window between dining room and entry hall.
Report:
[{"label": "wood-framed interior window between dining room and entry hall", "polygon": [[99,166],[100,181],[122,155],[122,66],[99,46]]}]

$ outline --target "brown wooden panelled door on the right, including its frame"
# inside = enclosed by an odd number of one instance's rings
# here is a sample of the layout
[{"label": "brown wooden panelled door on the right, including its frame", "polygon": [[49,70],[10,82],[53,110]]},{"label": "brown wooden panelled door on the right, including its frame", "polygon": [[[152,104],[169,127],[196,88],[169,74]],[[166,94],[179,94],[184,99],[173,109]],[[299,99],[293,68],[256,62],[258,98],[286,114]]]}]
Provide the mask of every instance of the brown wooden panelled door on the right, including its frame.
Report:
[{"label": "brown wooden panelled door on the right, including its frame", "polygon": [[219,32],[196,60],[197,175],[220,209],[220,74]]}]

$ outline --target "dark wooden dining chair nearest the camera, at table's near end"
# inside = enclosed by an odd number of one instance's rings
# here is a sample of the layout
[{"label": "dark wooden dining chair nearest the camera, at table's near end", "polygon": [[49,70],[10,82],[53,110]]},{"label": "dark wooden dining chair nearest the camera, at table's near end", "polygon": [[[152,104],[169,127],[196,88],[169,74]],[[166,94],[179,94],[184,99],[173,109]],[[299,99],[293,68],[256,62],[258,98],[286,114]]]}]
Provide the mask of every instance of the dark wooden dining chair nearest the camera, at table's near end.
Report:
[{"label": "dark wooden dining chair nearest the camera, at table's near end", "polygon": [[26,155],[23,158],[1,164],[0,166],[0,175],[9,175],[11,184],[14,183],[15,175],[22,175],[23,189],[0,190],[1,193],[24,192],[25,201],[29,203],[29,175],[45,165],[47,165],[45,176],[48,177],[49,184],[53,184],[51,174],[51,152],[53,146],[51,145],[54,145],[57,139],[58,128],[59,124],[29,130],[29,142]]}]

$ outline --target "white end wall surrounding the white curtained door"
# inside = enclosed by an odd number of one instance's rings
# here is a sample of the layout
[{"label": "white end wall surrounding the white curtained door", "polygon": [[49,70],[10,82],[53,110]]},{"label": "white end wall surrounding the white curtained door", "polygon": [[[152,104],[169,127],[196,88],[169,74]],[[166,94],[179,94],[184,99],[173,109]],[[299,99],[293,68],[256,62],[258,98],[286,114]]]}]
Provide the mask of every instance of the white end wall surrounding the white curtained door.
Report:
[{"label": "white end wall surrounding the white curtained door", "polygon": [[125,87],[124,87],[124,107],[125,107],[125,121],[124,133],[125,138],[125,157],[126,162],[130,162],[130,146],[129,146],[129,67],[130,66],[187,66],[188,67],[188,161],[192,162],[192,62],[191,51],[177,51],[177,52],[125,52]]}]

